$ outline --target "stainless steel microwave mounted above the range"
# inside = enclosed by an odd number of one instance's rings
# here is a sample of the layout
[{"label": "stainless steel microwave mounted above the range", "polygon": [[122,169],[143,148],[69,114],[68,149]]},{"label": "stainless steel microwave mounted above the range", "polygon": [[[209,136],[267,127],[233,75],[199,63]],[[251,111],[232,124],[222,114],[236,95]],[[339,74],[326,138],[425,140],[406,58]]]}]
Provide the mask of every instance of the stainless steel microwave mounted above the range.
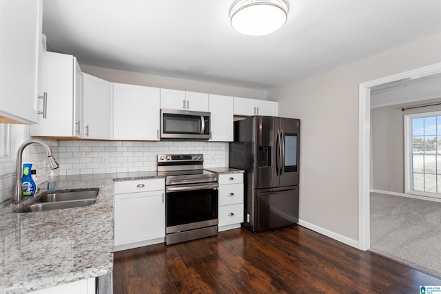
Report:
[{"label": "stainless steel microwave mounted above the range", "polygon": [[208,140],[210,113],[161,109],[161,139]]}]

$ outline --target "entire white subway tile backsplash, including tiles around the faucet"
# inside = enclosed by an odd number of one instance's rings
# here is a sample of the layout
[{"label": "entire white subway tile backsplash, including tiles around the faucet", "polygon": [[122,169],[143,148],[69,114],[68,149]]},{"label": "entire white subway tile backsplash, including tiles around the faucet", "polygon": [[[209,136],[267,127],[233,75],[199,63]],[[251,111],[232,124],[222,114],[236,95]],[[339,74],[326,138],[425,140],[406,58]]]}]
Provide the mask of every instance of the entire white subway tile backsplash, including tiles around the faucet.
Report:
[{"label": "entire white subway tile backsplash, including tiles around the faucet", "polygon": [[[204,167],[227,167],[228,143],[196,141],[93,141],[42,139],[52,149],[60,165],[57,176],[103,174],[131,171],[156,171],[158,154],[203,154]],[[29,145],[23,162],[32,162],[37,170],[37,185],[45,187],[50,174],[45,150],[40,145]],[[0,202],[10,198],[15,174],[0,175]]]}]

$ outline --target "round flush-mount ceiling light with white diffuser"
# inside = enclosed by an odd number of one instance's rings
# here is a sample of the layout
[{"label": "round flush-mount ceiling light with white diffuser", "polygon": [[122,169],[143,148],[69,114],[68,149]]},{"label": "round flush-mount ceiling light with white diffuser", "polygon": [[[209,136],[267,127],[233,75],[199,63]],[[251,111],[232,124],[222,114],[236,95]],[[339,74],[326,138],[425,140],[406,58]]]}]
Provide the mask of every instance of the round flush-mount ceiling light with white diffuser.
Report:
[{"label": "round flush-mount ceiling light with white diffuser", "polygon": [[263,36],[285,25],[288,4],[283,0],[238,0],[229,11],[234,30],[249,36]]}]

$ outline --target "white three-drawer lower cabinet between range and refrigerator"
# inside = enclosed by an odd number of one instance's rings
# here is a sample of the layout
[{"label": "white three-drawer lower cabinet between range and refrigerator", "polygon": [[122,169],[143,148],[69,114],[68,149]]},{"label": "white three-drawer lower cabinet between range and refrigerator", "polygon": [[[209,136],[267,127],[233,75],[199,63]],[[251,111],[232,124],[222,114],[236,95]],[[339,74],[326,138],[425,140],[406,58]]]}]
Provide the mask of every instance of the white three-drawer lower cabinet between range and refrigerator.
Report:
[{"label": "white three-drawer lower cabinet between range and refrigerator", "polygon": [[243,174],[219,174],[219,231],[236,229],[243,222]]}]

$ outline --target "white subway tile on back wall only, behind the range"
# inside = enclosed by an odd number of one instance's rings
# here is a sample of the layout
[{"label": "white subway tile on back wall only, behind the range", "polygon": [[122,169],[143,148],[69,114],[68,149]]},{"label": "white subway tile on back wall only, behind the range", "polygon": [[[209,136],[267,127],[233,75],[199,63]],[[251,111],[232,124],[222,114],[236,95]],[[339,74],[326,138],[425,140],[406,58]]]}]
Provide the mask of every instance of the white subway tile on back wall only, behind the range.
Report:
[{"label": "white subway tile on back wall only, behind the range", "polygon": [[203,154],[204,167],[227,166],[227,143],[59,141],[59,175],[156,171],[158,154]]}]

